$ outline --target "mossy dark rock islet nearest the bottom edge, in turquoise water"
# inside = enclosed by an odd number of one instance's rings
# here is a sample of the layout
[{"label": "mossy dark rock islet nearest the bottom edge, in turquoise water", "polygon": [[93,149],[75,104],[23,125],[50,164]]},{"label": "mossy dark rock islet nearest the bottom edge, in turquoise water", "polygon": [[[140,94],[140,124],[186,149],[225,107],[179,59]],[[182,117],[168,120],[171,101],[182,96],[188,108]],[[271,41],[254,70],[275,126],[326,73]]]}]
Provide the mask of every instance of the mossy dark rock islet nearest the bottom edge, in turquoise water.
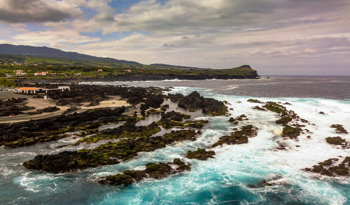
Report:
[{"label": "mossy dark rock islet nearest the bottom edge, in turquoise water", "polygon": [[[169,164],[179,166],[178,168],[173,169]],[[144,178],[162,179],[169,175],[190,169],[191,167],[187,163],[180,159],[174,159],[172,163],[148,163],[146,164],[145,170],[125,170],[122,174],[101,177],[101,180],[99,180],[98,183],[109,185],[130,185],[134,182],[141,181]]]}]

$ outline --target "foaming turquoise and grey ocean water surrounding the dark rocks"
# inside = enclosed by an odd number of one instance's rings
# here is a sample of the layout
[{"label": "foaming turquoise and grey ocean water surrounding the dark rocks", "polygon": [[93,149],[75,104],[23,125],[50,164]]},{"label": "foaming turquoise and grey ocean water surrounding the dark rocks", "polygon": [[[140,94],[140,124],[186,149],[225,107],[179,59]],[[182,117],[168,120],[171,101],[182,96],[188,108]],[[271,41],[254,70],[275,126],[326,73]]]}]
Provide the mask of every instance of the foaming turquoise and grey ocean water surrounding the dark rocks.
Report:
[{"label": "foaming turquoise and grey ocean water surrounding the dark rocks", "polygon": [[[350,131],[350,77],[263,76],[256,80],[93,84],[172,87],[170,93],[183,94],[197,90],[204,97],[228,101],[231,104],[228,107],[233,110],[229,110],[229,117],[212,117],[199,111],[189,113],[179,109],[178,112],[188,113],[194,119],[209,121],[196,141],[174,143],[153,152],[140,153],[118,165],[76,173],[28,171],[22,163],[40,153],[52,154],[96,145],[55,148],[75,142],[76,139],[69,137],[16,149],[0,147],[1,204],[350,204],[348,177],[328,177],[303,171],[330,158],[350,156],[350,149],[330,145],[325,140],[334,136],[350,140],[350,134],[336,134],[334,128],[330,128],[332,124],[341,124]],[[279,119],[277,114],[252,109],[257,104],[247,102],[250,98],[290,103],[284,106],[310,122],[303,128],[310,133],[301,134],[297,139],[282,137],[282,125],[275,124]],[[165,103],[170,104],[170,110],[176,109],[171,102]],[[321,111],[326,115],[319,114]],[[228,122],[230,117],[242,114],[249,120],[238,125]],[[159,115],[154,115],[139,123],[147,125],[157,119]],[[215,147],[211,149],[216,152],[214,159],[184,158],[188,150],[209,149],[233,128],[247,124],[259,128],[258,135],[249,138],[247,144]],[[277,149],[279,144],[286,149]],[[96,182],[99,176],[143,169],[149,162],[170,162],[174,158],[190,162],[191,171],[161,180],[146,179],[126,187]],[[274,185],[261,186],[262,180]]]}]

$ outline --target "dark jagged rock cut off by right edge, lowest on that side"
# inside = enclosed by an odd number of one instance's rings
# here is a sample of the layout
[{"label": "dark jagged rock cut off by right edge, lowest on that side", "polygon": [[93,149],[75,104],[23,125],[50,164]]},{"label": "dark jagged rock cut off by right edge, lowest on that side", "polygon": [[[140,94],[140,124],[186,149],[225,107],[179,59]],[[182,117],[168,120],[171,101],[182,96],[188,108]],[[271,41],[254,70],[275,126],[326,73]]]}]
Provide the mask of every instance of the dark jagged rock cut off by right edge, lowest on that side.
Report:
[{"label": "dark jagged rock cut off by right edge, lowest on that side", "polygon": [[328,159],[319,165],[314,165],[312,169],[304,169],[307,172],[319,173],[330,177],[350,176],[349,169],[350,157],[346,157],[341,163],[339,159]]}]

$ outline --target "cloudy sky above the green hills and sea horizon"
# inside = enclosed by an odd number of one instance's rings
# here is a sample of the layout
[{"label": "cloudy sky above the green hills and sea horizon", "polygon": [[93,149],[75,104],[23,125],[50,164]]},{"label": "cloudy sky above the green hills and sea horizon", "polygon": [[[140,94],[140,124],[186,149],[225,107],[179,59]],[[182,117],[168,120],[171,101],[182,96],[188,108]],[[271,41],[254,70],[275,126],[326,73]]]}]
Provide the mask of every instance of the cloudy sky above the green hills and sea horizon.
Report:
[{"label": "cloudy sky above the green hills and sea horizon", "polygon": [[0,0],[0,43],[142,64],[350,75],[349,0]]}]

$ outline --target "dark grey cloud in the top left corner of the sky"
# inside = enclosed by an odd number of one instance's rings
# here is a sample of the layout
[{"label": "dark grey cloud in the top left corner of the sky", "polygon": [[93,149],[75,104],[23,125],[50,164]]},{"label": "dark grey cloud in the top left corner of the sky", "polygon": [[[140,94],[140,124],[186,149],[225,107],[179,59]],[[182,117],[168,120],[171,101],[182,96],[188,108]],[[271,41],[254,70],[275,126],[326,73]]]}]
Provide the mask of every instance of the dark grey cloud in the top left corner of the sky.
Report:
[{"label": "dark grey cloud in the top left corner of the sky", "polygon": [[0,2],[0,21],[7,23],[59,22],[82,15],[78,8],[59,8],[43,0],[4,0]]}]

